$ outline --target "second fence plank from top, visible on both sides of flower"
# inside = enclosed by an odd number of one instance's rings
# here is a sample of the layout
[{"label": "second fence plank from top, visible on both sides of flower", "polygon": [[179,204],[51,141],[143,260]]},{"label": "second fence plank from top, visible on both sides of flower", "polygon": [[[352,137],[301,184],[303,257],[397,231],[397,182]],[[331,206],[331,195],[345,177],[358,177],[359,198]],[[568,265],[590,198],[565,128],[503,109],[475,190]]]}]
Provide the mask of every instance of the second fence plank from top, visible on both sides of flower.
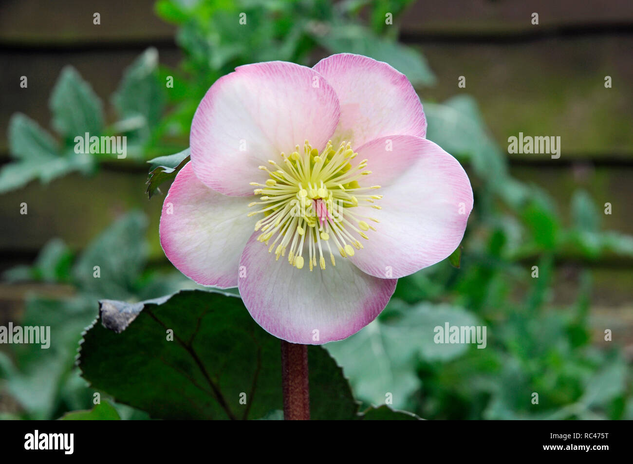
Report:
[{"label": "second fence plank from top, visible on both sides of flower", "polygon": [[[423,47],[437,74],[435,87],[420,89],[422,99],[444,101],[456,94],[477,99],[492,135],[503,149],[508,137],[561,137],[561,158],[633,158],[633,37],[592,37],[513,46],[436,44]],[[116,88],[123,68],[139,51],[98,53],[0,53],[0,152],[6,153],[9,116],[22,111],[47,125],[47,101],[64,65],[72,64],[102,98]],[[175,65],[180,52],[160,49],[161,63]],[[20,89],[20,76],[29,77]],[[458,77],[466,87],[458,87]],[[605,75],[612,87],[605,88]],[[4,150],[2,148],[4,147]],[[544,155],[516,154],[544,161]]]}]

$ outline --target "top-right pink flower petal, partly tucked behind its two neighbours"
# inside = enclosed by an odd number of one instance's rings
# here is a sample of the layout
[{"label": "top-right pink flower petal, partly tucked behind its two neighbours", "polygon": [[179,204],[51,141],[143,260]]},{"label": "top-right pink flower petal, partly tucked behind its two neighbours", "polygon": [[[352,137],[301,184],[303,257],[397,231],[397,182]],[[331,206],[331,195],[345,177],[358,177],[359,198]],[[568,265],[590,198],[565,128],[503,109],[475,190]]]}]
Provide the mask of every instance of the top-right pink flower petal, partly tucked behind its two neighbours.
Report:
[{"label": "top-right pink flower petal, partly tucked behind its two neighbours", "polygon": [[426,135],[426,118],[413,85],[387,63],[339,53],[323,58],[314,69],[334,87],[341,103],[334,144],[344,140],[356,148],[384,135]]}]

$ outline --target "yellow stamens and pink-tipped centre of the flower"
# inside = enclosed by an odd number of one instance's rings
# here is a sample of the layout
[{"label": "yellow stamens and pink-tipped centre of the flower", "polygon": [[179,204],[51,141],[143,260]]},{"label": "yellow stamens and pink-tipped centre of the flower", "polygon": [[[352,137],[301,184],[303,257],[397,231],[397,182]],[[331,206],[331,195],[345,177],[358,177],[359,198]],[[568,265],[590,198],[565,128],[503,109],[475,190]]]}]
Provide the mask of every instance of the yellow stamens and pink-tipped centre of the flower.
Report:
[{"label": "yellow stamens and pink-tipped centre of the flower", "polygon": [[[288,262],[301,269],[307,254],[312,270],[316,266],[318,250],[318,263],[325,269],[324,251],[330,253],[330,261],[335,266],[332,246],[338,249],[342,258],[354,256],[354,248],[363,248],[356,237],[367,240],[369,237],[365,232],[376,230],[365,220],[379,221],[363,213],[364,208],[380,210],[380,206],[372,203],[382,195],[364,192],[379,189],[380,185],[361,187],[358,183],[372,172],[365,170],[367,160],[352,166],[358,153],[354,153],[349,143],[342,142],[338,149],[334,149],[330,141],[321,153],[308,141],[303,146],[303,153],[299,146],[295,149],[289,156],[281,154],[282,166],[268,161],[275,170],[260,166],[270,178],[265,184],[251,182],[250,185],[257,187],[254,194],[261,197],[260,201],[248,206],[257,204],[261,209],[248,215],[261,213],[264,216],[255,224],[255,230],[261,229],[257,239],[266,245],[273,240],[268,253],[274,248],[275,260],[285,256],[287,250]],[[307,252],[304,252],[304,244]]]}]

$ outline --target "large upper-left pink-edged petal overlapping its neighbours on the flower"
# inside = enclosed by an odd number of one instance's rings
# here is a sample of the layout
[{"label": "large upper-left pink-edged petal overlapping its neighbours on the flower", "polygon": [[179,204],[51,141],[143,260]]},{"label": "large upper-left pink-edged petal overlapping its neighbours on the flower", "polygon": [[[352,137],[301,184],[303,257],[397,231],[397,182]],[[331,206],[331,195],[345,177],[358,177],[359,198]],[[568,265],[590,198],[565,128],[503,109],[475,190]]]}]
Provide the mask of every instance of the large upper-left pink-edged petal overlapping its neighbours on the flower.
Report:
[{"label": "large upper-left pink-edged petal overlapping its neighbours on the flower", "polygon": [[211,86],[191,123],[197,177],[227,195],[252,195],[260,165],[310,144],[322,149],[339,120],[334,89],[315,70],[284,61],[239,66]]}]

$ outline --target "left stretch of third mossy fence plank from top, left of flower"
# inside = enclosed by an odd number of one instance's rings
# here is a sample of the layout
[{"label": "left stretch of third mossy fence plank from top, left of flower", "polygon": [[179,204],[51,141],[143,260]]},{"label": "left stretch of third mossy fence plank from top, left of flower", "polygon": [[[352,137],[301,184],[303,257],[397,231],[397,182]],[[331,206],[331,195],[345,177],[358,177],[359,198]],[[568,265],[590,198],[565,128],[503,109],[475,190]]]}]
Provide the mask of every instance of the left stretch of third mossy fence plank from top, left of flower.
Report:
[{"label": "left stretch of third mossy fence plank from top, left of flower", "polygon": [[[48,185],[31,182],[4,194],[0,253],[32,255],[53,237],[82,249],[120,215],[141,210],[149,218],[151,253],[160,256],[158,220],[164,197],[148,200],[146,179],[143,173],[101,170],[93,177],[70,174]],[[27,215],[20,214],[21,203],[27,203]]]}]

